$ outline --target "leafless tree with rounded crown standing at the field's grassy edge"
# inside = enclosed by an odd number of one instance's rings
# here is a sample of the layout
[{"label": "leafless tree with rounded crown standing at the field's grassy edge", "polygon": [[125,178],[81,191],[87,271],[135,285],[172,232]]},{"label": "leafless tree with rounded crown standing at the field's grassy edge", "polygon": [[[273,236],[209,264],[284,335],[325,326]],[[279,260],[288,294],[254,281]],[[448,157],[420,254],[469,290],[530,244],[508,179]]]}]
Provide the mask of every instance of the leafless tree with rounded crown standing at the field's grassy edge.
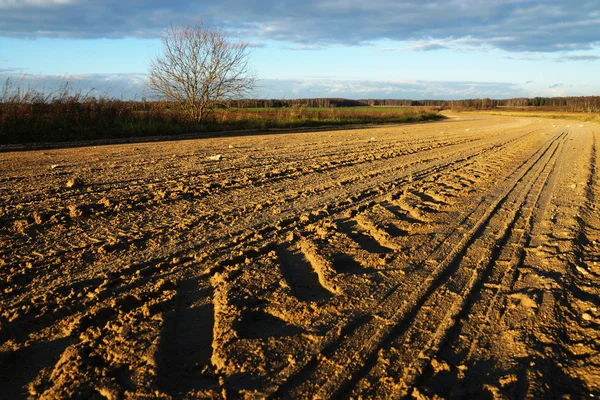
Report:
[{"label": "leafless tree with rounded crown standing at the field's grassy edge", "polygon": [[163,53],[150,65],[148,85],[160,97],[177,102],[196,122],[254,88],[248,43],[230,40],[222,30],[201,22],[170,27],[162,45]]}]

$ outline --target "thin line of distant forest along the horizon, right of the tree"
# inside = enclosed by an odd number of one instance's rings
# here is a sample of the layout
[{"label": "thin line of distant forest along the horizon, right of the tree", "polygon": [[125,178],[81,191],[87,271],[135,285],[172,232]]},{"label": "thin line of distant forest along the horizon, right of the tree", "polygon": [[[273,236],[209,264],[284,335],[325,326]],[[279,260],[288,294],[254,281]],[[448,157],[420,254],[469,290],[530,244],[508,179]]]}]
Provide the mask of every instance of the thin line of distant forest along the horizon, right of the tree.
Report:
[{"label": "thin line of distant forest along the horizon, right of the tree", "polygon": [[409,107],[427,106],[446,108],[463,108],[471,110],[490,110],[497,107],[552,107],[562,111],[572,112],[600,112],[600,96],[583,97],[534,97],[515,99],[468,99],[468,100],[395,100],[395,99],[362,99],[349,100],[339,98],[315,99],[267,99],[267,100],[240,100],[230,103],[238,108],[279,108],[279,107]]}]

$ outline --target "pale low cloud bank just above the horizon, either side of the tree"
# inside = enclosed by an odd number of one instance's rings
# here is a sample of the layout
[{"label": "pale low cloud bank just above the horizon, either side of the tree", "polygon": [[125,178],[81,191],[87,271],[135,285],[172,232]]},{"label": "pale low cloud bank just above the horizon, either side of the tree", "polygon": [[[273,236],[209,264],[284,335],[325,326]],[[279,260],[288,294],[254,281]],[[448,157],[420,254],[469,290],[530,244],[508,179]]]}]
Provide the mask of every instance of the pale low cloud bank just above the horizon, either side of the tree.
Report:
[{"label": "pale low cloud bank just above the horizon, either side of the tree", "polygon": [[[54,93],[68,83],[74,93],[122,98],[152,98],[146,88],[145,74],[14,75],[0,71],[0,80],[10,79],[13,87],[32,88]],[[307,98],[343,97],[349,99],[467,99],[522,97],[517,84],[468,81],[370,81],[340,80],[330,77],[313,79],[262,79],[254,97]]]}]

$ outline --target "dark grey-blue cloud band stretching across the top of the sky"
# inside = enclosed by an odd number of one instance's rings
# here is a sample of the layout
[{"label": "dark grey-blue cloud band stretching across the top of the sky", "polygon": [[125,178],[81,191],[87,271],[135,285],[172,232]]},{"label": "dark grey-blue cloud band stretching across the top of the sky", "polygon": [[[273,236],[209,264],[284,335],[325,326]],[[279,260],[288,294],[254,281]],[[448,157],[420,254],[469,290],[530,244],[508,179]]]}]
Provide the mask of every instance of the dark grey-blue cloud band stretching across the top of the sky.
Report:
[{"label": "dark grey-blue cloud band stretching across the top of the sky", "polygon": [[14,37],[157,37],[167,24],[202,18],[250,40],[299,45],[433,40],[415,50],[434,50],[470,40],[572,52],[600,42],[597,0],[0,0],[0,8],[0,35]]}]

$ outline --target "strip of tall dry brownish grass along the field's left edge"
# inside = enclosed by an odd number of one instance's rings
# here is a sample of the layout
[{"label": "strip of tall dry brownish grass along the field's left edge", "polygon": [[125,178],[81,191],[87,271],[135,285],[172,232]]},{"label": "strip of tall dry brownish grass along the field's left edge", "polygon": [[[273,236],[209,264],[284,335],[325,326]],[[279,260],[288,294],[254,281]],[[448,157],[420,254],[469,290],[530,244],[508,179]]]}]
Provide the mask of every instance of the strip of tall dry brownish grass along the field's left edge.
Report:
[{"label": "strip of tall dry brownish grass along the field's left edge", "polygon": [[240,130],[407,123],[444,118],[432,107],[245,108],[217,110],[202,124],[172,103],[95,98],[64,90],[0,93],[0,144],[168,136]]}]

